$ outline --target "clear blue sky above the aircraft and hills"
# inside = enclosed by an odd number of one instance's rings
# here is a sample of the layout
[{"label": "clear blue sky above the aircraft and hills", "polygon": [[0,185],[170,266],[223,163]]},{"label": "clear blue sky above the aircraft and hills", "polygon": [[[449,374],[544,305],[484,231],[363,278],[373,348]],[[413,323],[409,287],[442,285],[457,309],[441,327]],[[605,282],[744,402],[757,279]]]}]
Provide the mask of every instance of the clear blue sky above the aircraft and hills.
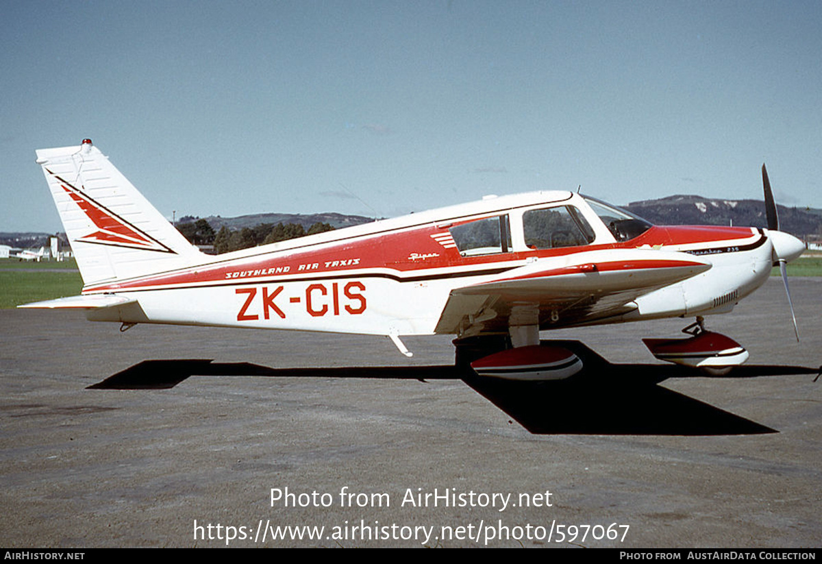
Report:
[{"label": "clear blue sky above the aircraft and hills", "polygon": [[34,151],[84,137],[169,218],[761,198],[763,162],[780,203],[822,207],[822,2],[0,0],[0,21],[0,231],[62,230]]}]

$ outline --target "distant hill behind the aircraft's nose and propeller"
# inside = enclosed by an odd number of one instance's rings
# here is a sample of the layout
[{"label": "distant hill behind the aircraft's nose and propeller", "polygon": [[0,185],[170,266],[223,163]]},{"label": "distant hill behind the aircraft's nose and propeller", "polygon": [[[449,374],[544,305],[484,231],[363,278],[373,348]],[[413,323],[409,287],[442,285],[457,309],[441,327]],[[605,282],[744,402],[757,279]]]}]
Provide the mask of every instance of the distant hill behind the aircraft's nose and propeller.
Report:
[{"label": "distant hill behind the aircraft's nose and propeller", "polygon": [[[622,206],[658,225],[745,225],[767,227],[761,200],[718,200],[702,196],[667,196]],[[803,237],[822,235],[822,210],[777,205],[779,229]]]}]

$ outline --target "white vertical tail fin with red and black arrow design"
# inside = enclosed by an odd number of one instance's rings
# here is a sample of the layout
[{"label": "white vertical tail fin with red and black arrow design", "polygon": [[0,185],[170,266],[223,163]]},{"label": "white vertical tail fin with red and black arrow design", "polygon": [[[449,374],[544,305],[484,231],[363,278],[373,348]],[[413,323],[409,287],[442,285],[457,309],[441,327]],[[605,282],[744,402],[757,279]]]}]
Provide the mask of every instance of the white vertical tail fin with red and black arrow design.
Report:
[{"label": "white vertical tail fin with red and black arrow design", "polygon": [[85,287],[189,266],[201,252],[89,139],[37,150]]}]

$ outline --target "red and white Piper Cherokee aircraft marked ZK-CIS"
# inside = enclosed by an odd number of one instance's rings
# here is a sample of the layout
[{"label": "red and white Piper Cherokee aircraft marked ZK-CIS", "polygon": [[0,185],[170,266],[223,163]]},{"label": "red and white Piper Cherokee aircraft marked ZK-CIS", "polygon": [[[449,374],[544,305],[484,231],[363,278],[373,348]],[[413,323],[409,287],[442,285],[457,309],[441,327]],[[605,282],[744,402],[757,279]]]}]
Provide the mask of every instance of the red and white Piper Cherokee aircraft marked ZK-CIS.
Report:
[{"label": "red and white Piper Cherokee aircraft marked ZK-CIS", "polygon": [[655,226],[579,193],[532,192],[209,256],[90,140],[38,150],[37,162],[84,287],[21,307],[80,308],[121,331],[170,323],[385,335],[407,356],[404,335],[455,335],[457,363],[470,350],[487,377],[570,377],[581,359],[541,345],[539,331],[661,317],[696,321],[684,339],[645,340],[657,358],[726,371],[748,353],[706,331],[703,316],[730,312],[776,264],[787,290],[785,263],[804,250],[778,230],[764,165],[769,229]]}]

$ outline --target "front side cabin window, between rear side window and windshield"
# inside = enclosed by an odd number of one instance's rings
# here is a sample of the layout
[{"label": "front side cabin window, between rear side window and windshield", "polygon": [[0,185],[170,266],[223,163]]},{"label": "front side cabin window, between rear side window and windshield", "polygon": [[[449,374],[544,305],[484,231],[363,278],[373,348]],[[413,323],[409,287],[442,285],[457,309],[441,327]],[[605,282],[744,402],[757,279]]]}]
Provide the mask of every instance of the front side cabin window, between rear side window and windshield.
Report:
[{"label": "front side cabin window, between rear side window and windshield", "polygon": [[593,229],[574,206],[528,210],[523,214],[522,222],[525,244],[533,249],[593,243]]}]

